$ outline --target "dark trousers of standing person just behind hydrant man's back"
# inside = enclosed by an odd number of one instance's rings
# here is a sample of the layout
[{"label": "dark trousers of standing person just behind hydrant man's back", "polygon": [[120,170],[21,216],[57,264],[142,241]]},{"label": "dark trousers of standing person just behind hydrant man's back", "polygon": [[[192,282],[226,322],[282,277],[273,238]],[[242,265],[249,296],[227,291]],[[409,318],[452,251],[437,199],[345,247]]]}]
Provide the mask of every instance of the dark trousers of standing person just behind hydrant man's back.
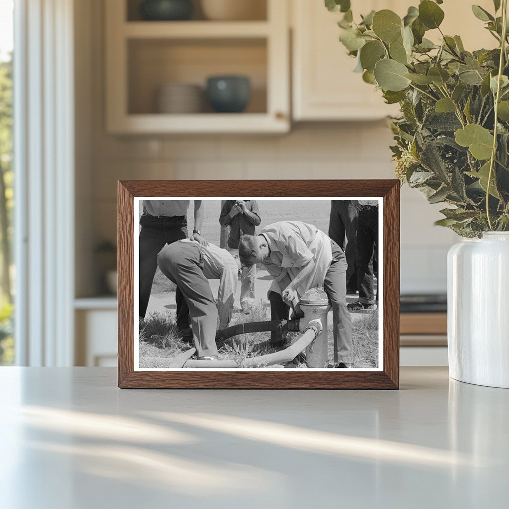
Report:
[{"label": "dark trousers of standing person just behind hydrant man's back", "polygon": [[356,234],[357,209],[354,202],[333,200],[330,208],[329,237],[345,251],[348,264],[347,288],[354,291],[357,290]]}]

